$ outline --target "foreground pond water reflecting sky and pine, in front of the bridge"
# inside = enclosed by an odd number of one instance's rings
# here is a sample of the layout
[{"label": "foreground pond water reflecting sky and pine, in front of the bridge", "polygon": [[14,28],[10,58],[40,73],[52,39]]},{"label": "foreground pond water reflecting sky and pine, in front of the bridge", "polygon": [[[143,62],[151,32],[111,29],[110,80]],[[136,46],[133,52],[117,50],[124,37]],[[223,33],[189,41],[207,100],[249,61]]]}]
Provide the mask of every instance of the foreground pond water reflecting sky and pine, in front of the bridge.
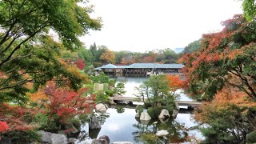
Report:
[{"label": "foreground pond water reflecting sky and pine, in front of the bridge", "polygon": [[[120,106],[117,106],[118,109]],[[118,113],[118,109],[109,108],[106,114],[99,114],[99,117],[106,117],[102,121],[100,130],[89,130],[90,138],[99,138],[107,135],[110,142],[128,141],[133,143],[146,143],[141,137],[142,134],[155,134],[157,130],[168,130],[169,136],[158,138],[159,143],[186,142],[188,136],[195,135],[196,138],[202,138],[198,130],[189,130],[197,123],[190,120],[190,114],[178,114],[176,119],[167,119],[160,121],[153,119],[148,122],[141,122],[134,118],[135,110],[123,108],[123,113]],[[154,122],[158,122],[154,125]],[[82,142],[81,142],[82,143]]]}]

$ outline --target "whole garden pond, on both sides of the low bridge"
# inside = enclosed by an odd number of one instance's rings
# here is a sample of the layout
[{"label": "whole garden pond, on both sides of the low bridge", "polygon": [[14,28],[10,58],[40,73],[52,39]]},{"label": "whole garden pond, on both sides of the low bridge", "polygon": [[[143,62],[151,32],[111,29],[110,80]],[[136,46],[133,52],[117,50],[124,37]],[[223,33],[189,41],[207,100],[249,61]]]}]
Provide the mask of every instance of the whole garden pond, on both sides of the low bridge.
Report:
[{"label": "whole garden pond, on both sides of the low bridge", "polygon": [[[116,78],[117,82],[125,82],[126,97],[134,97],[136,90],[134,86],[139,86],[146,78]],[[182,90],[178,90],[181,93]],[[180,100],[192,101],[186,97],[186,94],[181,94]],[[157,130],[168,130],[169,136],[159,138],[158,143],[182,143],[187,141],[188,138],[203,139],[202,134],[193,127],[198,123],[194,121],[193,114],[186,110],[178,113],[174,119],[167,119],[159,121],[158,119],[151,119],[150,122],[140,122],[135,118],[135,107],[130,106],[111,106],[105,114],[97,114],[98,119],[102,123],[100,130],[89,130],[88,124],[82,126],[82,130],[86,137],[80,139],[80,142],[91,142],[93,138],[99,138],[102,135],[107,135],[110,142],[125,141],[133,143],[146,143],[150,142],[147,135],[155,134]],[[154,124],[157,122],[157,124]],[[142,138],[141,134],[144,134]],[[82,135],[80,135],[80,138]],[[79,138],[78,138],[79,139]],[[154,142],[153,142],[154,143]],[[189,142],[190,143],[190,142]]]}]

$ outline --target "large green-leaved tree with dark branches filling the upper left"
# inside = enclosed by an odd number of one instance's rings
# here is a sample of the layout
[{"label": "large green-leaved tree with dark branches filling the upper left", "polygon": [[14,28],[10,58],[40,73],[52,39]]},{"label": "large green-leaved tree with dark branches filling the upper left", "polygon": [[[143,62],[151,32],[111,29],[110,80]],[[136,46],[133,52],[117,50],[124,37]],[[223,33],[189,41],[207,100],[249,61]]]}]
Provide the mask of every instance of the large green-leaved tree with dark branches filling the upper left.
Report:
[{"label": "large green-leaved tree with dark branches filling the upper left", "polygon": [[[58,57],[62,50],[77,50],[78,36],[100,30],[100,20],[90,18],[92,11],[71,0],[2,0],[0,1],[0,99],[24,101],[25,84],[34,88],[51,79],[70,79],[70,86],[80,87],[82,78]],[[60,42],[48,31],[54,30]]]}]

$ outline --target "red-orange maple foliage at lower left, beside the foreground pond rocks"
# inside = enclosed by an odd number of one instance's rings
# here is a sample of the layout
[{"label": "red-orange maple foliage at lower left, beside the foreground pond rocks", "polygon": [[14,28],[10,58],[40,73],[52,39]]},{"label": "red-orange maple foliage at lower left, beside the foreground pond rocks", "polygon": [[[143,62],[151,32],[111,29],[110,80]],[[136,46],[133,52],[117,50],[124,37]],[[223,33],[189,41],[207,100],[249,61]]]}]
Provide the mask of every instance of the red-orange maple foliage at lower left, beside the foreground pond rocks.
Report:
[{"label": "red-orange maple foliage at lower left, beside the foreground pond rocks", "polygon": [[0,119],[4,122],[1,122],[0,133],[43,130],[45,127],[40,126],[41,123],[36,119],[40,118],[39,115],[46,117],[44,123],[54,122],[55,128],[62,129],[62,125],[69,124],[76,115],[88,114],[94,108],[95,96],[87,97],[86,90],[75,92],[68,86],[58,87],[54,82],[47,82],[37,93],[27,94],[30,106],[10,106],[3,103],[0,106]]}]

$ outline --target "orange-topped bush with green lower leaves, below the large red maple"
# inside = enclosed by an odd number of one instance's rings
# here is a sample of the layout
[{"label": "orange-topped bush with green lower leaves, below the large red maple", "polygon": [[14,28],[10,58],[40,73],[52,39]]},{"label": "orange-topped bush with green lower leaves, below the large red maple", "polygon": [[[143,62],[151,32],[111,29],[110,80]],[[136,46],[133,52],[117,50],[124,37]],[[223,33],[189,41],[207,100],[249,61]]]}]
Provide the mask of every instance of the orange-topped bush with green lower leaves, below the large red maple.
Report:
[{"label": "orange-topped bush with green lower leaves, below the large red maple", "polygon": [[209,124],[202,129],[206,142],[245,142],[246,134],[256,130],[256,103],[245,92],[225,86],[214,100],[204,103],[195,118]]}]

